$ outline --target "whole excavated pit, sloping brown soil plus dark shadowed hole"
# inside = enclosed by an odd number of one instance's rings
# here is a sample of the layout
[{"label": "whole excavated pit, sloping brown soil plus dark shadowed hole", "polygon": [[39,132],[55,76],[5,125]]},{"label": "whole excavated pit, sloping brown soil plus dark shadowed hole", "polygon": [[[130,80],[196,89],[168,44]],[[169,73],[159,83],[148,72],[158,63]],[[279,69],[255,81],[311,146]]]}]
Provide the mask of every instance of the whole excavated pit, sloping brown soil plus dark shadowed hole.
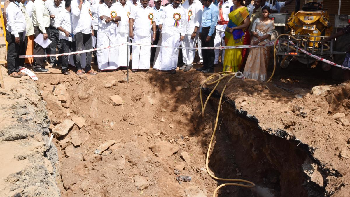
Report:
[{"label": "whole excavated pit, sloping brown soil plus dark shadowed hole", "polygon": [[[107,75],[111,76],[110,74]],[[87,79],[77,79],[76,77],[59,79],[59,83],[65,84],[66,91],[71,94],[72,107],[67,109],[57,108],[61,110],[59,112],[55,111],[52,106],[49,107],[51,122],[55,122],[55,125],[59,124],[62,120],[57,119],[59,116],[65,116],[67,112],[71,113],[68,117],[73,115],[83,116],[86,121],[85,127],[78,128],[74,126],[70,129],[69,134],[67,134],[68,138],[71,138],[70,141],[67,141],[66,136],[54,140],[59,152],[60,164],[57,167],[58,171],[61,171],[62,174],[62,169],[69,168],[70,171],[68,170],[65,174],[71,172],[71,176],[75,177],[69,177],[69,181],[63,180],[63,175],[56,177],[62,196],[86,194],[90,196],[135,196],[140,193],[135,188],[135,182],[137,181],[136,178],[133,178],[135,175],[146,177],[149,183],[149,189],[142,191],[142,193],[145,191],[145,196],[157,196],[155,193],[158,193],[158,196],[186,196],[187,192],[183,193],[184,186],[179,186],[177,182],[174,182],[174,175],[172,174],[174,163],[175,165],[183,163],[180,159],[180,153],[184,151],[192,152],[191,157],[192,154],[196,156],[191,158],[192,165],[186,164],[183,173],[193,176],[194,181],[192,183],[197,185],[204,195],[211,196],[216,186],[225,183],[214,181],[205,171],[198,168],[198,165],[205,166],[205,153],[212,128],[214,128],[214,117],[218,106],[219,93],[217,91],[212,95],[207,107],[207,111],[210,112],[207,113],[205,118],[200,118],[200,102],[197,90],[199,90],[198,83],[202,81],[202,78],[188,80],[187,83],[191,88],[187,87],[187,89],[185,87],[186,90],[184,89],[181,93],[180,91],[170,91],[169,89],[175,89],[175,87],[169,87],[168,85],[154,86],[152,80],[145,87],[135,88],[140,84],[140,81],[137,80],[142,80],[138,78],[132,80],[131,84],[133,85],[130,86],[119,84],[108,89],[98,89],[97,82],[105,79],[105,77],[93,82]],[[43,81],[39,84],[42,94],[46,90],[52,90],[52,87],[57,87],[56,85],[44,85],[50,80],[52,79],[47,78],[46,82]],[[149,86],[150,84],[151,86]],[[80,89],[84,89],[83,86],[89,88],[89,90],[85,89],[87,91],[93,89],[89,93],[90,95],[93,95],[96,90],[101,90],[101,92],[96,93],[98,94],[96,98],[90,97],[82,100],[79,96],[73,94]],[[132,91],[124,92],[128,88]],[[148,93],[147,88],[150,90]],[[139,90],[142,92],[141,95],[138,94]],[[202,88],[202,90],[206,95],[211,91],[209,88]],[[159,91],[160,95],[162,93],[167,95],[164,98],[158,96],[159,101],[165,101],[166,105],[160,103],[158,106],[155,105],[157,101],[153,100],[156,100],[156,98],[152,97],[151,94],[152,92],[154,94],[155,91]],[[110,92],[121,95],[124,100],[128,98],[133,101],[134,104],[131,104],[130,107],[132,109],[148,107],[146,117],[152,117],[153,121],[158,123],[155,125],[151,123],[150,125],[153,126],[145,126],[141,122],[140,125],[149,130],[155,129],[155,131],[140,129],[141,126],[135,127],[138,121],[142,119],[140,117],[142,111],[125,113],[125,111],[130,110],[126,104],[124,104],[125,109],[119,109],[118,106],[113,105],[111,101],[106,99]],[[51,97],[43,96],[43,98],[49,99],[47,100],[48,105],[52,103]],[[174,102],[167,100],[169,98],[173,99]],[[182,103],[182,99],[186,102]],[[149,103],[145,104],[144,100],[148,100]],[[217,177],[246,179],[254,182],[257,187],[246,189],[237,186],[226,186],[220,189],[220,196],[316,197],[325,195],[325,186],[322,187],[310,181],[310,178],[304,173],[308,167],[307,165],[315,163],[310,155],[312,150],[308,145],[295,138],[287,137],[287,131],[278,130],[271,134],[272,132],[269,132],[271,130],[263,130],[258,124],[259,120],[248,115],[246,111],[238,110],[233,100],[225,98],[224,101],[221,106],[219,125],[209,158],[209,168]],[[129,102],[129,100],[125,102]],[[164,106],[167,106],[167,108]],[[186,108],[189,110],[186,111]],[[167,114],[162,115],[159,111]],[[170,112],[173,114],[170,114]],[[110,115],[110,119],[103,120],[107,115]],[[180,126],[179,130],[172,130],[174,125],[170,125],[169,122],[166,124],[167,127],[161,125],[163,124],[163,117],[166,121],[168,121],[167,118],[174,122],[179,120],[177,122],[179,124],[185,122],[185,125]],[[88,120],[89,118],[91,120]],[[101,119],[102,121],[99,122]],[[118,123],[119,120],[120,123]],[[52,125],[50,129],[54,128],[55,125]],[[113,128],[113,125],[117,125],[117,128]],[[129,127],[135,128],[129,130]],[[71,145],[73,143],[71,142],[73,141],[72,131],[80,136],[81,141],[83,141],[81,144]],[[128,136],[125,137],[124,132]],[[189,138],[184,138],[186,134],[189,135]],[[87,137],[83,140],[82,136],[86,135]],[[116,147],[113,147],[115,150],[109,149],[106,151],[108,153],[102,154],[102,156],[96,155],[96,153],[93,154],[98,145],[108,140],[116,140],[116,138],[121,138],[121,140],[115,144]],[[177,138],[182,138],[186,144],[184,146],[180,145],[180,149],[169,157],[170,159],[161,158],[157,156],[158,153],[153,154],[154,152],[152,153],[149,150],[149,147],[156,142],[169,141],[174,144],[179,141]],[[172,139],[175,139],[175,142]],[[62,141],[64,141],[64,144]],[[70,150],[67,150],[68,147],[70,147]],[[78,159],[72,159],[72,155],[77,155]],[[67,162],[68,160],[69,162]],[[123,167],[118,167],[120,161],[123,163]],[[67,165],[69,166],[67,167]],[[110,171],[111,169],[114,170]],[[323,181],[321,182],[325,185],[325,177],[323,174],[322,176]],[[132,180],[130,181],[130,179]],[[69,184],[67,185],[66,182],[69,182]],[[169,186],[169,182],[172,185]],[[95,184],[96,186],[94,186]]]}]

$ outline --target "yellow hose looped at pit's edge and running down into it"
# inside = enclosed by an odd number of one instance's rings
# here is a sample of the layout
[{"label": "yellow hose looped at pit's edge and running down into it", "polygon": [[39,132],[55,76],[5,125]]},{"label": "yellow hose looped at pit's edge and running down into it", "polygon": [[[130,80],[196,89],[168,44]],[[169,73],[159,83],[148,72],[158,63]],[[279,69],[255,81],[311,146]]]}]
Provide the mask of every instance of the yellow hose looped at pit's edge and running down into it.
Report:
[{"label": "yellow hose looped at pit's edge and running down into it", "polygon": [[[225,73],[225,74],[224,74]],[[223,75],[221,75],[223,74]],[[213,81],[213,82],[208,82],[209,80],[213,79],[215,76],[218,76],[218,79]],[[209,146],[208,146],[208,151],[207,151],[207,155],[206,155],[206,158],[205,158],[205,167],[207,168],[207,172],[209,174],[209,176],[211,176],[212,178],[214,179],[217,179],[219,181],[232,181],[232,182],[244,182],[244,183],[248,183],[249,185],[246,185],[246,184],[240,184],[240,183],[224,183],[224,184],[221,184],[219,185],[215,190],[214,190],[214,193],[213,193],[213,197],[215,197],[215,193],[217,192],[218,189],[222,188],[223,186],[226,186],[226,185],[236,185],[236,186],[241,186],[241,187],[245,187],[245,188],[253,188],[255,186],[255,184],[253,182],[250,182],[250,181],[246,181],[246,180],[243,180],[243,179],[230,179],[230,178],[219,178],[219,177],[216,177],[214,176],[213,174],[211,174],[211,172],[209,171],[209,168],[208,168],[208,159],[209,159],[209,152],[210,152],[210,148],[211,148],[211,144],[213,142],[213,139],[214,139],[214,135],[215,135],[215,131],[217,129],[217,124],[218,124],[218,119],[219,119],[219,113],[220,113],[220,106],[221,106],[221,101],[222,101],[222,97],[224,95],[224,92],[225,92],[225,89],[226,89],[226,85],[233,79],[235,78],[235,72],[228,72],[228,71],[225,71],[225,72],[219,72],[219,73],[215,73],[213,75],[211,75],[210,77],[207,78],[207,80],[205,80],[205,84],[206,85],[211,85],[211,84],[214,84],[216,83],[215,87],[211,90],[207,100],[205,101],[204,105],[203,105],[203,99],[202,99],[202,90],[200,89],[200,97],[201,97],[201,106],[202,106],[202,117],[204,117],[204,110],[205,110],[205,107],[207,106],[207,103],[208,103],[208,100],[210,98],[210,96],[212,95],[212,93],[215,91],[215,89],[217,88],[217,86],[219,85],[219,83],[221,82],[222,79],[228,77],[228,76],[232,76],[229,81],[225,84],[224,86],[224,89],[222,90],[221,92],[221,96],[220,96],[220,100],[219,100],[219,107],[218,107],[218,110],[217,110],[217,115],[216,115],[216,120],[215,120],[215,126],[214,126],[214,130],[213,130],[213,133],[211,135],[211,138],[210,138],[210,142],[209,142]]]}]

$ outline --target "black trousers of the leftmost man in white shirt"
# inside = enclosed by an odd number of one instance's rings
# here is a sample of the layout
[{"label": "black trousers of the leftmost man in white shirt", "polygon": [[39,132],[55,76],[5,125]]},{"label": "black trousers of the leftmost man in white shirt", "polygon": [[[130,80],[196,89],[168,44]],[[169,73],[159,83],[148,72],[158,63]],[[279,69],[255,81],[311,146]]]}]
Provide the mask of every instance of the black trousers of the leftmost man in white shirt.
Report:
[{"label": "black trousers of the leftmost man in white shirt", "polygon": [[19,65],[24,64],[24,58],[19,58],[19,55],[26,54],[26,48],[24,48],[23,32],[18,33],[20,42],[15,43],[15,36],[6,29],[6,41],[7,41],[7,74],[13,72],[19,72]]}]

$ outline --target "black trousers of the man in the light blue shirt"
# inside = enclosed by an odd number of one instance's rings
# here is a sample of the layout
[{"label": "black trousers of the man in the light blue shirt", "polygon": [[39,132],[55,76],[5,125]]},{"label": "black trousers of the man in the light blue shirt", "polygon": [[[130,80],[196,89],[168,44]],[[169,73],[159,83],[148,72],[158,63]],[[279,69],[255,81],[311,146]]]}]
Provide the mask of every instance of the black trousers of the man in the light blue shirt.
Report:
[{"label": "black trousers of the man in the light blue shirt", "polygon": [[[214,47],[216,29],[214,29],[214,33],[211,35],[209,42],[205,42],[205,39],[207,39],[209,30],[210,30],[210,27],[202,28],[202,34],[201,34],[202,47]],[[203,68],[214,69],[214,60],[215,60],[214,49],[202,49],[202,55],[203,55]]]}]

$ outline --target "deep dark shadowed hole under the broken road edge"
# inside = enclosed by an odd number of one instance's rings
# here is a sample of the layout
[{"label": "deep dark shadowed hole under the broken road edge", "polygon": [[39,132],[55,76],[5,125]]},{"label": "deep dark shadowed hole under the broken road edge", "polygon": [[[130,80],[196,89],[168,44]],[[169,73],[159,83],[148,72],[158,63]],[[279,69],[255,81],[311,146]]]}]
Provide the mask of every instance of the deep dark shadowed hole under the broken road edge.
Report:
[{"label": "deep dark shadowed hole under the broken road edge", "polygon": [[[211,89],[202,91],[209,95]],[[215,91],[209,102],[215,111],[219,96]],[[257,185],[252,190],[226,186],[221,191],[224,196],[325,196],[325,186],[311,182],[304,172],[315,162],[308,145],[293,137],[287,139],[284,130],[271,134],[271,129],[263,130],[258,123],[224,96],[209,167],[217,177],[245,179]],[[325,185],[326,177],[321,174]]]}]

